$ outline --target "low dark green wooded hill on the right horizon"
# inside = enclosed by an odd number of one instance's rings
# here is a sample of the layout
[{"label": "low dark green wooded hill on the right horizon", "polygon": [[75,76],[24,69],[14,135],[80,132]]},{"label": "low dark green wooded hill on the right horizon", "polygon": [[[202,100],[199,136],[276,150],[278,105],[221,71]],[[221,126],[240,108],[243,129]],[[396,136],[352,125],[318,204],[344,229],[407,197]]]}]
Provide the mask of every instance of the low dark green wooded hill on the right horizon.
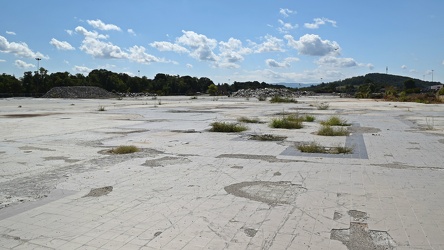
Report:
[{"label": "low dark green wooded hill on the right horizon", "polygon": [[415,79],[407,76],[370,73],[364,76],[355,76],[340,81],[303,87],[302,89],[320,92],[320,93],[355,92],[361,85],[372,84],[376,92],[389,86],[402,90],[404,88],[404,83],[409,80],[414,81],[415,87],[419,89],[427,89],[430,86],[441,84],[440,82],[423,81],[420,79]]}]

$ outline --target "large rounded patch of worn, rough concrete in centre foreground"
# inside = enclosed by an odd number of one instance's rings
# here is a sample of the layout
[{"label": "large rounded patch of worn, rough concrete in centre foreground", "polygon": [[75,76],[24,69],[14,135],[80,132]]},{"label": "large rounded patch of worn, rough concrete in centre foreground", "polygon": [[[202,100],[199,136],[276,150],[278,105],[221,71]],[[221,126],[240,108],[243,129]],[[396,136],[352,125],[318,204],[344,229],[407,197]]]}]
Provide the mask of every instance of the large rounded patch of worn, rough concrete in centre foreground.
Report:
[{"label": "large rounded patch of worn, rough concrete in centre foreground", "polygon": [[274,206],[293,203],[297,196],[304,193],[306,189],[289,181],[252,181],[226,186],[225,191],[237,197]]}]

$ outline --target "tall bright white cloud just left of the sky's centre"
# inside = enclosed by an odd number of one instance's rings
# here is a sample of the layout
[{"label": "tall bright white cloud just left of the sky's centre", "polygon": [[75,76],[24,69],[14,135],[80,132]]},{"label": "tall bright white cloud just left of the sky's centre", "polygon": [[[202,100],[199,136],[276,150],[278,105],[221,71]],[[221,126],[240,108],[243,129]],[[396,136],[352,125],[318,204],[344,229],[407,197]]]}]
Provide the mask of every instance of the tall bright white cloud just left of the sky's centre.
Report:
[{"label": "tall bright white cloud just left of the sky's centre", "polygon": [[210,39],[194,31],[182,30],[183,35],[177,39],[177,43],[190,49],[190,56],[201,61],[217,61],[218,58],[213,50],[217,46],[215,39]]}]

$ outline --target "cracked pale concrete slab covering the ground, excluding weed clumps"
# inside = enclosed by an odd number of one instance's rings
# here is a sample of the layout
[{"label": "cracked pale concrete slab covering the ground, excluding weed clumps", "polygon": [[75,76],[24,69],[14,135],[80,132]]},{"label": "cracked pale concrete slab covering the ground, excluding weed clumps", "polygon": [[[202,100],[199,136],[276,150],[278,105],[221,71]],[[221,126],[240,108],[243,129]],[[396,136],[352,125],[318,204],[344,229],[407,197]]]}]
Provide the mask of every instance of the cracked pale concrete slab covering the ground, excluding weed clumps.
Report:
[{"label": "cracked pale concrete slab covering the ground, excluding weed clumps", "polygon": [[[298,101],[1,99],[0,249],[444,249],[444,106]],[[316,121],[270,128],[282,112]],[[331,115],[352,134],[316,135]],[[208,131],[241,116],[264,123]]]}]

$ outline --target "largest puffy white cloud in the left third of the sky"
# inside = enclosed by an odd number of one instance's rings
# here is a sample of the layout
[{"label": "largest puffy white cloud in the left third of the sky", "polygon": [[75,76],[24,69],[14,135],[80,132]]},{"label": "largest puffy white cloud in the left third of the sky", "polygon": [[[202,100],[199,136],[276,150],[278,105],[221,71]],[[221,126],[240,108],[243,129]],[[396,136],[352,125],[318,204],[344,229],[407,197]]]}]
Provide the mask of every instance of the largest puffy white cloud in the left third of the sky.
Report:
[{"label": "largest puffy white cloud in the left third of the sky", "polygon": [[96,58],[128,58],[128,54],[123,52],[119,46],[91,37],[85,37],[80,46],[80,50]]}]

